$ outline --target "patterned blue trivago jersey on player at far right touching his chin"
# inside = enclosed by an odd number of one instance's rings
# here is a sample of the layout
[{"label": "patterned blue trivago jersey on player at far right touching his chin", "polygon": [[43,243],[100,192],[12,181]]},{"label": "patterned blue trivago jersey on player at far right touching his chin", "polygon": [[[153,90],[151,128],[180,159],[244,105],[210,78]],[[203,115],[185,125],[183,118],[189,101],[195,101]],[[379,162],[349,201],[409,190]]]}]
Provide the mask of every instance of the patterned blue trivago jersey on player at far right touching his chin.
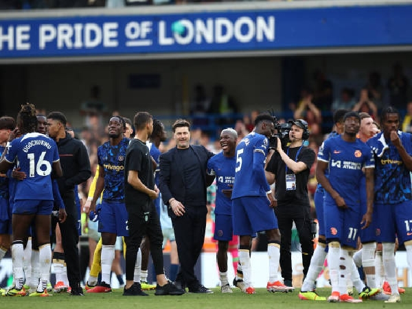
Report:
[{"label": "patterned blue trivago jersey on player at far right touching his chin", "polygon": [[[400,139],[405,150],[412,155],[412,135],[400,133]],[[375,154],[375,200],[378,204],[398,204],[411,201],[411,175],[404,165],[398,150],[390,140],[385,141],[383,133],[372,137],[366,142],[376,150]],[[388,146],[383,150],[383,145]]]}]

